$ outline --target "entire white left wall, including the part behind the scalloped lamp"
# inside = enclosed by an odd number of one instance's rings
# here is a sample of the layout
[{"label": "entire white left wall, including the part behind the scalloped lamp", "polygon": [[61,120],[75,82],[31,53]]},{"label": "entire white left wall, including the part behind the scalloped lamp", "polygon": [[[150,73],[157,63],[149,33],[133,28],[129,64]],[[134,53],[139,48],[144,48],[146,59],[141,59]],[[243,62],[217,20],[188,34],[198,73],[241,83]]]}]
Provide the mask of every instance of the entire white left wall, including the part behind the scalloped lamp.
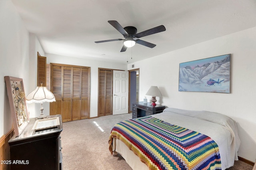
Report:
[{"label": "entire white left wall, including the part behind the scalloped lamp", "polygon": [[[26,95],[36,88],[37,51],[44,51],[35,34],[29,33],[10,0],[0,1],[0,136],[12,128],[12,115],[4,76],[23,79]],[[49,109],[49,108],[48,108]],[[47,108],[46,108],[47,110]],[[40,104],[27,104],[29,117],[40,115]]]}]

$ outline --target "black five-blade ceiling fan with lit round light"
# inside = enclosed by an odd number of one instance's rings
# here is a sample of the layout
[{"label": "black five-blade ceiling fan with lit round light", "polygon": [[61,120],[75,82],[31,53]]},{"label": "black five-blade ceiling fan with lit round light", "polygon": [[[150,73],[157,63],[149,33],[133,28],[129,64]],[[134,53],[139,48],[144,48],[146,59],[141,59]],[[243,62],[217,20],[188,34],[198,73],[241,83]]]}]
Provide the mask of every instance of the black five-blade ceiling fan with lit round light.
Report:
[{"label": "black five-blade ceiling fan with lit round light", "polygon": [[[146,42],[137,38],[141,38],[141,37],[145,37],[145,36],[149,36],[151,34],[156,34],[158,32],[162,32],[165,31],[165,27],[163,25],[155,27],[155,28],[151,28],[149,30],[140,32],[137,34],[137,28],[133,27],[133,26],[127,26],[127,27],[122,27],[117,21],[111,20],[108,21],[109,24],[111,24],[114,28],[116,28],[116,30],[118,30],[118,32],[120,32],[125,39],[113,39],[113,40],[103,40],[103,41],[97,41],[95,43],[102,43],[102,42],[114,42],[114,41],[122,41],[124,40],[124,45],[121,49],[120,52],[124,52],[126,51],[126,49],[128,47],[132,47],[134,46],[136,43],[140,44],[140,45],[144,45],[146,47],[150,47],[150,48],[154,48],[156,46],[156,44],[150,43],[150,42]],[[135,40],[134,40],[135,38]]]}]

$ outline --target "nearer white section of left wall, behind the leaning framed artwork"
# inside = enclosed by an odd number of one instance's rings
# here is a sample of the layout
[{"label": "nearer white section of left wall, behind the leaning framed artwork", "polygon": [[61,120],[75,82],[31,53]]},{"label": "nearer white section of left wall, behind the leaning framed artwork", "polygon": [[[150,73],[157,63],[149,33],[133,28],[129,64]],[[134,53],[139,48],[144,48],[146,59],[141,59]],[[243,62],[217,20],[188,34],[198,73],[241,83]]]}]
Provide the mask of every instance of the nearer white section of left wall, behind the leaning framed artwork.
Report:
[{"label": "nearer white section of left wall, behind the leaning framed artwork", "polygon": [[0,137],[12,127],[12,115],[4,76],[23,79],[29,85],[29,33],[10,0],[0,1]]}]

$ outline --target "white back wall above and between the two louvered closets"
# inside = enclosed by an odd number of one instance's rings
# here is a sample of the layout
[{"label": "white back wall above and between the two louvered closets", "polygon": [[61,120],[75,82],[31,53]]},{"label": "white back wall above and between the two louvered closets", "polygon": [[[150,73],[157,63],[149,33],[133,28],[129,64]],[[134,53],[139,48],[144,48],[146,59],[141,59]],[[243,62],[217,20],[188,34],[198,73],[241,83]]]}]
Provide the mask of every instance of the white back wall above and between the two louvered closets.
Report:
[{"label": "white back wall above and between the two louvered closets", "polygon": [[91,67],[91,96],[90,96],[90,117],[98,116],[98,68],[127,70],[126,64],[109,63],[104,61],[66,57],[46,53],[47,63],[60,63],[69,65],[80,65]]}]

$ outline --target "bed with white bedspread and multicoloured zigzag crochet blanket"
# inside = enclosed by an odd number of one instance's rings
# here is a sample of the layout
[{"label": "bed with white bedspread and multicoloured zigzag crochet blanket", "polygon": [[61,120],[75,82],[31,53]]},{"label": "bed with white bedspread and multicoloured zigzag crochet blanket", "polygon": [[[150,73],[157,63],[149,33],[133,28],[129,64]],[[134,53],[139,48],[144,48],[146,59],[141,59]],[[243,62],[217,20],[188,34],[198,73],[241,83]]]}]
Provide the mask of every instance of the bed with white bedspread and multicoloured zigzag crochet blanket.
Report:
[{"label": "bed with white bedspread and multicoloured zigzag crochet blanket", "polygon": [[236,122],[209,111],[166,108],[163,113],[122,121],[109,137],[133,170],[222,169],[238,160]]}]

